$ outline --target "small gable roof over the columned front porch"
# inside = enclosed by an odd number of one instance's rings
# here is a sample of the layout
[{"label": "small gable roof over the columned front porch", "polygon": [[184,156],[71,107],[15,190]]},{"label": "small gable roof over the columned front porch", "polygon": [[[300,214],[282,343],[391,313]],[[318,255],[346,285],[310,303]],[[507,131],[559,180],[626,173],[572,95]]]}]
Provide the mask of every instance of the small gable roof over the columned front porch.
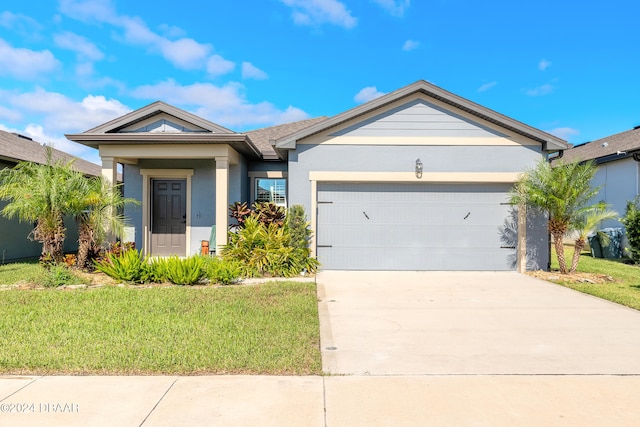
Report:
[{"label": "small gable roof over the columned front porch", "polygon": [[[124,131],[127,127],[160,114],[168,114],[202,130],[181,132],[171,131],[170,127],[169,132]],[[156,101],[88,131],[65,136],[93,148],[110,144],[228,144],[249,158],[261,157],[260,150],[246,134],[236,133],[162,101]]]}]

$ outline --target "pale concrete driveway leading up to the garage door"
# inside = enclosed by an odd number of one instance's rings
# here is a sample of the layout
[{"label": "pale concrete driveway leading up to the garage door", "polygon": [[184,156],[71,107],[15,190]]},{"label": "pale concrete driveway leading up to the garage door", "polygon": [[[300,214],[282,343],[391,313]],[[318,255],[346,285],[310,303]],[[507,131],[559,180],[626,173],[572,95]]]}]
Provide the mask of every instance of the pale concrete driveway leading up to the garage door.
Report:
[{"label": "pale concrete driveway leading up to the garage door", "polygon": [[317,277],[332,374],[640,374],[640,312],[511,272]]}]

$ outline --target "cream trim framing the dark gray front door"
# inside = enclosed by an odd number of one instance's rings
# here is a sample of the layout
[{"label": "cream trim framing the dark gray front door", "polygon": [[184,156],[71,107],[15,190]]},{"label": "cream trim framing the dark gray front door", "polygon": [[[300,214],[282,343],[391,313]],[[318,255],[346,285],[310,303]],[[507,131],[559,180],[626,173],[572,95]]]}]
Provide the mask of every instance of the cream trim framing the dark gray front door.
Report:
[{"label": "cream trim framing the dark gray front door", "polygon": [[149,254],[151,250],[151,230],[149,224],[151,220],[151,179],[186,179],[187,180],[187,224],[186,224],[186,251],[184,256],[189,255],[191,247],[191,177],[193,169],[140,169],[142,175],[142,241],[143,252]]}]

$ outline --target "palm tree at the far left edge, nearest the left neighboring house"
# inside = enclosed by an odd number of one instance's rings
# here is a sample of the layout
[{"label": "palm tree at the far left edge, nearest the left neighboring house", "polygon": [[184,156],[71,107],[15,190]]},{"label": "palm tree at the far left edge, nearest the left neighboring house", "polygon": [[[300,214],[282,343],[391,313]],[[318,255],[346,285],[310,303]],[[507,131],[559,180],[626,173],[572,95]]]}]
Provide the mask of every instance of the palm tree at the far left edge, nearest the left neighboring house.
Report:
[{"label": "palm tree at the far left edge, nearest the left neighboring house", "polygon": [[77,181],[73,161],[54,162],[49,147],[46,156],[45,164],[20,162],[0,171],[0,200],[9,202],[2,210],[5,217],[35,223],[28,238],[42,243],[42,258],[61,262],[66,232],[63,218]]}]

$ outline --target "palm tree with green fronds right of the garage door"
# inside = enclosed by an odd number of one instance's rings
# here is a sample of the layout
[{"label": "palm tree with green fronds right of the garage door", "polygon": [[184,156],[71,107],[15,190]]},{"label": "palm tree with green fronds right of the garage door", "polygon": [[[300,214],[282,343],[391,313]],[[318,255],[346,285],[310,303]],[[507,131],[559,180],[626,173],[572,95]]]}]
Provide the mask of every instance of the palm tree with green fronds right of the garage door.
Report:
[{"label": "palm tree with green fronds right of the garage door", "polygon": [[563,237],[579,221],[598,189],[591,187],[596,166],[585,163],[558,163],[553,167],[541,159],[523,174],[511,192],[510,202],[545,212],[553,236],[560,273],[567,274]]}]

